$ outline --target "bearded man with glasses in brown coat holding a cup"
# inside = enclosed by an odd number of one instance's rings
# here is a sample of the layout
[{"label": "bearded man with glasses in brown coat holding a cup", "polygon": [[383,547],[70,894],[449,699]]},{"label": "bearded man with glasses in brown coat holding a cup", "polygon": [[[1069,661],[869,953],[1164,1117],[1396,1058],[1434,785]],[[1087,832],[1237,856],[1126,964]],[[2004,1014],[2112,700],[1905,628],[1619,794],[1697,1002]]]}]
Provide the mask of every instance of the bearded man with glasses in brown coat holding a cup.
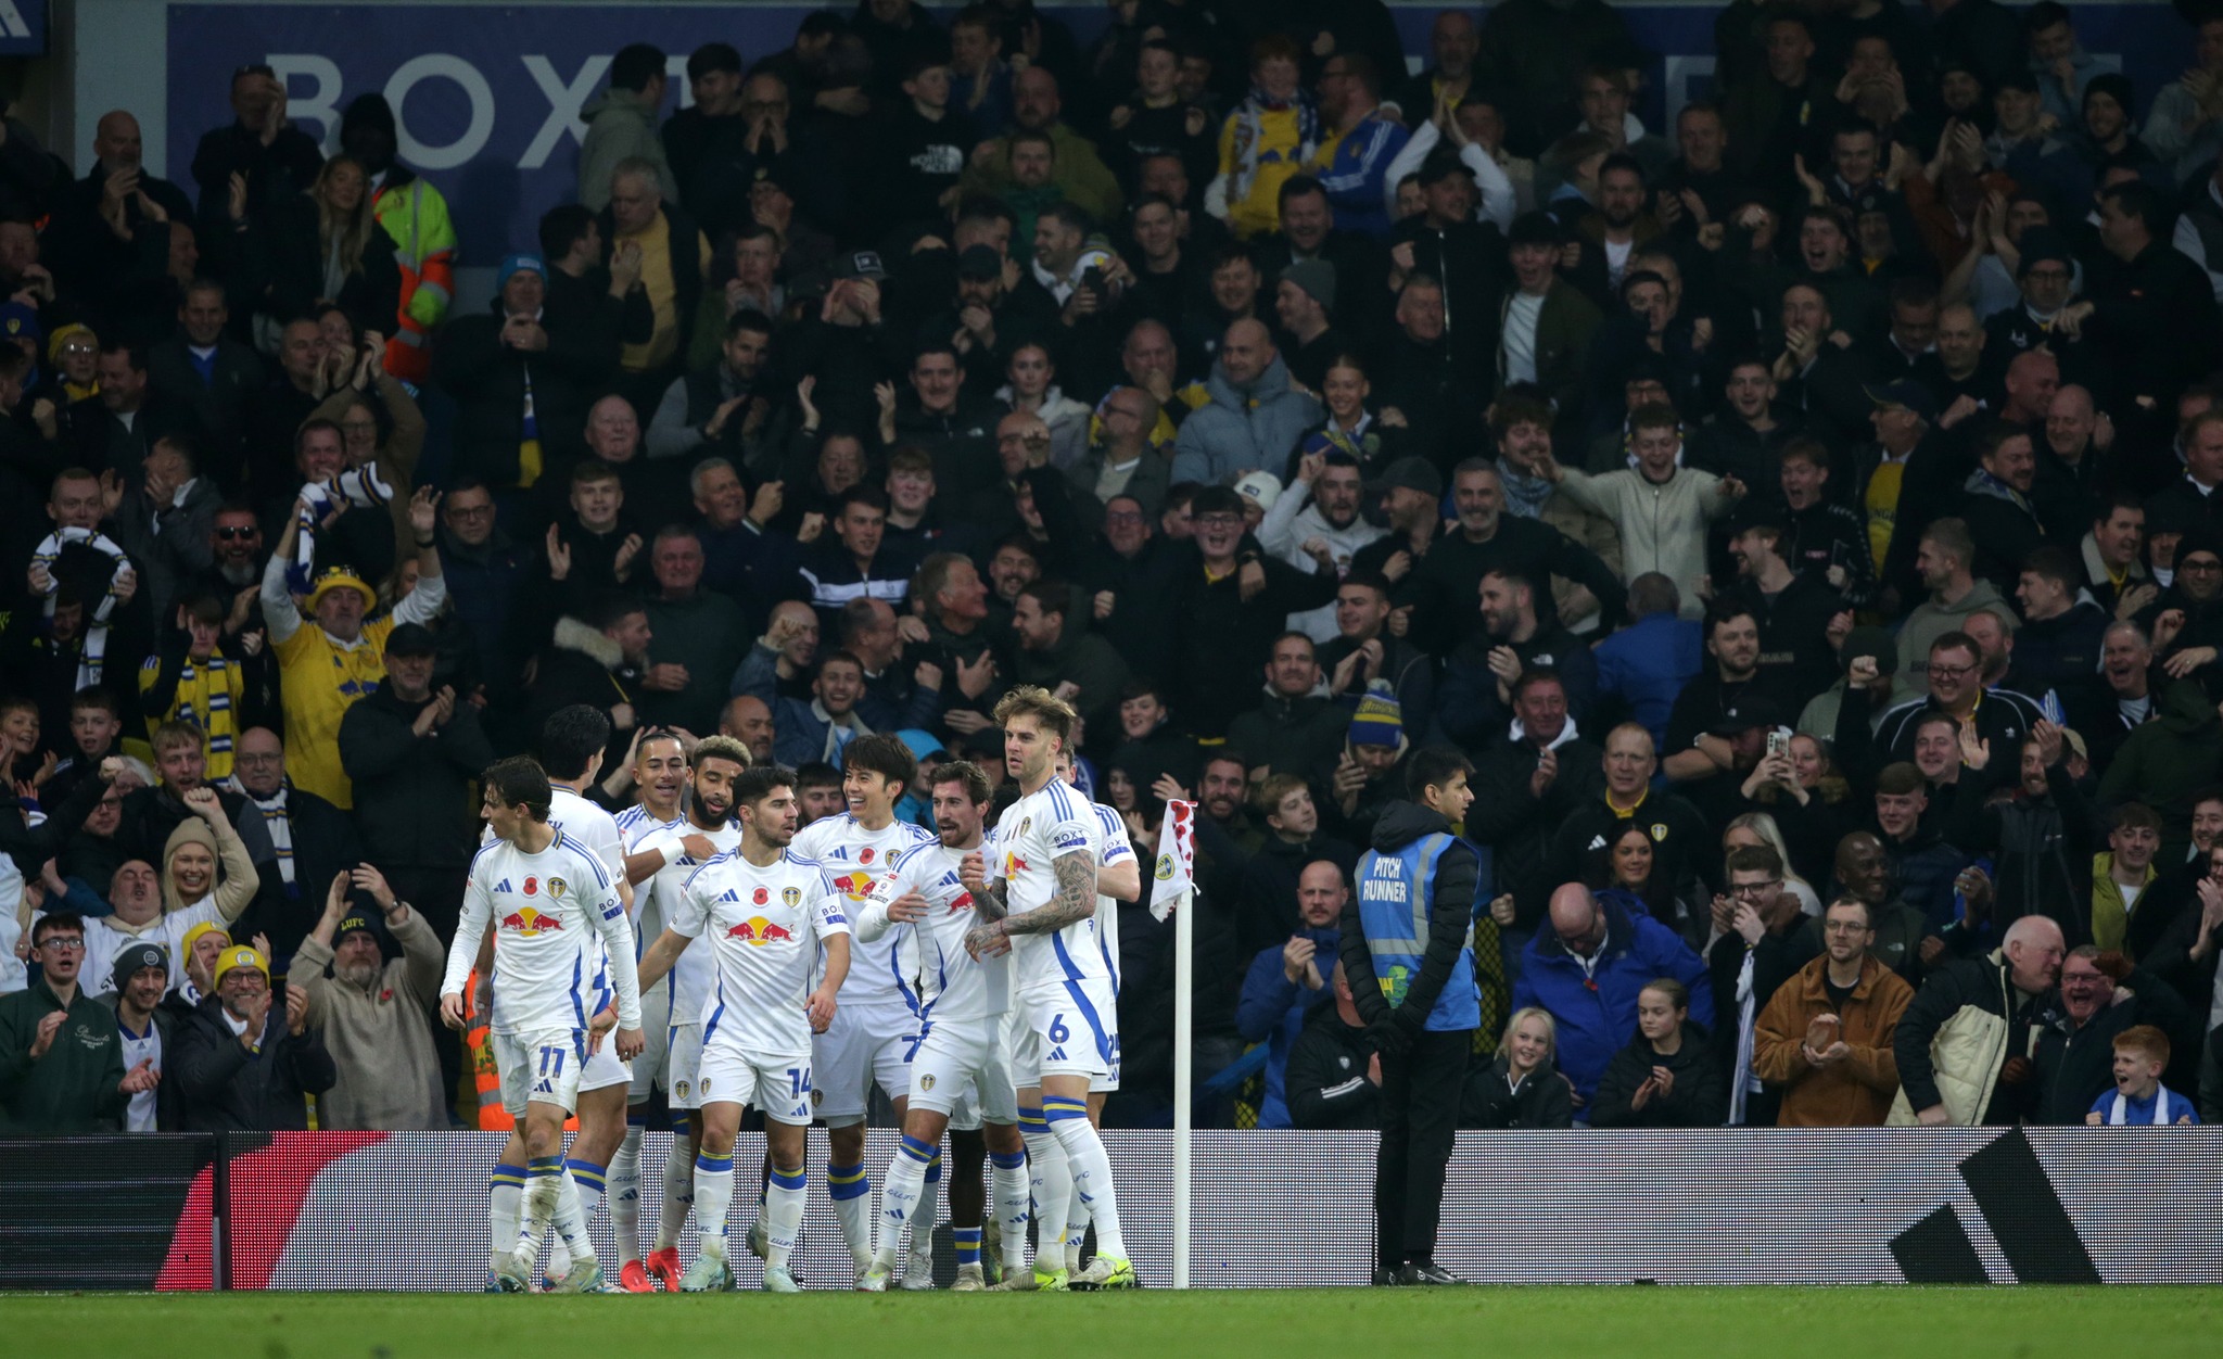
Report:
[{"label": "bearded man with glasses in brown coat holding a cup", "polygon": [[1783,1092],[1783,1128],[1881,1128],[1898,1090],[1892,1034],[1914,988],[1870,952],[1874,907],[1832,901],[1823,956],[1776,988],[1754,1028],[1752,1074]]}]

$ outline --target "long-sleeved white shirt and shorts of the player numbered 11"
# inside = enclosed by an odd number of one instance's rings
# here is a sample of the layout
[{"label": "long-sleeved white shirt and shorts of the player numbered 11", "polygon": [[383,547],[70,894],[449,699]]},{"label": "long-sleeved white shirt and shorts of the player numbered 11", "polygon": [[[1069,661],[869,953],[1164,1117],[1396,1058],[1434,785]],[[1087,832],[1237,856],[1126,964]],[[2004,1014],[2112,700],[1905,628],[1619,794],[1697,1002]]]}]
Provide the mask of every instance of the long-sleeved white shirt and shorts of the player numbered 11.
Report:
[{"label": "long-sleeved white shirt and shorts of the player numbered 11", "polygon": [[614,992],[618,1028],[640,1028],[634,928],[616,879],[567,834],[538,854],[494,841],[471,861],[462,887],[442,996],[462,994],[487,930],[494,930],[487,1030],[502,1108],[514,1119],[525,1117],[527,1101],[571,1112],[587,1065],[587,1003],[598,994],[598,970]]}]

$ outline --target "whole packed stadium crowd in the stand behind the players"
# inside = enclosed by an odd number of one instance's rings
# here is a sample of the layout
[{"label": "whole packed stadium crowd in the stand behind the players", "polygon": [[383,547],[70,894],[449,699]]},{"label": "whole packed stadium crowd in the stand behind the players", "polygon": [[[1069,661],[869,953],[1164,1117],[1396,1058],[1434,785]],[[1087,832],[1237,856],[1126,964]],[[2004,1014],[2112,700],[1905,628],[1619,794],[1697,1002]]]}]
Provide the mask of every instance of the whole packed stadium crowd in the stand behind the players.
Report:
[{"label": "whole packed stadium crowd in the stand behind the players", "polygon": [[[609,810],[725,734],[825,816],[896,734],[925,825],[1020,683],[1145,863],[1198,805],[1207,1125],[2223,1117],[2179,9],[2134,89],[2052,0],[1736,0],[1647,127],[1601,0],[1418,69],[1378,0],[865,0],[618,51],[534,240],[267,67],[191,182],[7,122],[0,1130],[473,1121],[487,765],[589,705]],[[1114,1125],[1172,1101],[1143,896]]]}]

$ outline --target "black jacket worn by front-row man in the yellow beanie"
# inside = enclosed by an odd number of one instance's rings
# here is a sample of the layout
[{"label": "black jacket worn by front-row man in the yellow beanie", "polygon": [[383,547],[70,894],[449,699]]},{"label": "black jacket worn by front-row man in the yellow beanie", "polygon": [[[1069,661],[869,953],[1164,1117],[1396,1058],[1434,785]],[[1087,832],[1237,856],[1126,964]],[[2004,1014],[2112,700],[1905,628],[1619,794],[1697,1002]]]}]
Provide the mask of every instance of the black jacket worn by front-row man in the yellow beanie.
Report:
[{"label": "black jacket worn by front-row man in the yellow beanie", "polygon": [[287,1032],[285,992],[271,994],[262,1043],[249,1052],[225,1023],[225,1003],[202,1001],[178,1023],[176,1068],[162,1083],[178,1083],[185,1132],[300,1132],[309,1128],[307,1094],[322,1094],[340,1079],[322,1030]]}]

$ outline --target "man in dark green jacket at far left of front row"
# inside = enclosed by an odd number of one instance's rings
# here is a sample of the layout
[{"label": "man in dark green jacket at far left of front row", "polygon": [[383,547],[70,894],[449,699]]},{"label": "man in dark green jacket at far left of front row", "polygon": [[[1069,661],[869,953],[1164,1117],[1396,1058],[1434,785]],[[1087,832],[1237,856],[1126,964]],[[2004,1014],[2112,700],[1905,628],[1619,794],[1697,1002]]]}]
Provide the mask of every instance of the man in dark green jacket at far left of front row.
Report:
[{"label": "man in dark green jacket at far left of front row", "polygon": [[[0,1130],[11,1137],[116,1132],[136,1094],[160,1079],[151,1063],[124,1070],[116,1014],[78,988],[84,921],[69,912],[31,925],[38,974],[0,996]],[[67,1030],[67,1032],[64,1032]]]}]

